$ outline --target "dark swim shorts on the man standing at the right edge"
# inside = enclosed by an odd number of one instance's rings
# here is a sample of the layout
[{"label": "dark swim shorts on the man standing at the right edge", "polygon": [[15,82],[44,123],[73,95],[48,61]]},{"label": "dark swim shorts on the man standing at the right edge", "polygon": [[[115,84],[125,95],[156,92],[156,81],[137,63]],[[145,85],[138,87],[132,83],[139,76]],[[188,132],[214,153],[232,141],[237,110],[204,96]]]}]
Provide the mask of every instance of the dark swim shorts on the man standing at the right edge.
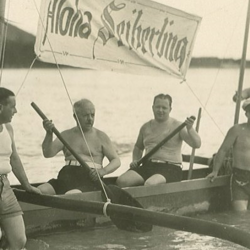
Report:
[{"label": "dark swim shorts on the man standing at the right edge", "polygon": [[250,196],[250,171],[233,168],[230,188],[233,201],[248,200]]}]

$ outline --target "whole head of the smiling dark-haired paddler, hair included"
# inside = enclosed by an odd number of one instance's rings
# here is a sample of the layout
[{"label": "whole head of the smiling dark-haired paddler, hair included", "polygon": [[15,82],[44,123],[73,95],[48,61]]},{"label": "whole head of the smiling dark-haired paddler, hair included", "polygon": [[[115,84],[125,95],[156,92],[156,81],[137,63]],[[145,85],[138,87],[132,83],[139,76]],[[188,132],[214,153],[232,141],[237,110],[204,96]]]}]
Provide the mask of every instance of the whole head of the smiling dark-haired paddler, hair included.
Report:
[{"label": "whole head of the smiling dark-haired paddler, hair included", "polygon": [[172,97],[165,94],[155,96],[152,109],[156,121],[166,121],[172,109]]}]

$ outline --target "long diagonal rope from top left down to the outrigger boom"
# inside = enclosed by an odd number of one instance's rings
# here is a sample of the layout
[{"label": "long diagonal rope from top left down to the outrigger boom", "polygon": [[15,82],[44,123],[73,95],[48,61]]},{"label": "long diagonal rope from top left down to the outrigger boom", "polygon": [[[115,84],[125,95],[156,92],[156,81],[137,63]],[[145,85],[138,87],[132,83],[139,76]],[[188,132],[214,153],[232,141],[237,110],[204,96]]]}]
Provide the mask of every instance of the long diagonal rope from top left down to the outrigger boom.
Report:
[{"label": "long diagonal rope from top left down to the outrigger boom", "polygon": [[[42,24],[42,28],[43,28],[43,30],[45,31],[46,29],[45,29],[45,27],[44,27],[44,25],[43,25],[42,18],[41,18],[41,15],[40,15],[40,12],[39,12],[39,10],[38,10],[38,7],[37,7],[37,4],[36,4],[35,0],[33,0],[33,3],[34,3],[34,5],[35,5],[36,11],[37,11],[37,13],[38,13],[39,20],[40,20],[40,22],[41,22],[41,24]],[[57,67],[57,69],[58,69],[58,72],[59,72],[59,74],[60,74],[60,77],[61,77],[61,80],[62,80],[62,83],[63,83],[64,89],[65,89],[65,91],[66,91],[66,94],[67,94],[67,96],[68,96],[69,102],[70,102],[70,104],[71,104],[71,106],[72,106],[72,108],[73,108],[73,112],[74,112],[74,114],[76,115],[76,120],[77,120],[78,124],[80,124],[80,123],[79,123],[78,116],[77,116],[77,114],[76,114],[76,112],[75,112],[75,108],[74,108],[74,105],[73,105],[72,99],[71,99],[71,97],[70,97],[70,94],[69,94],[69,91],[68,91],[68,89],[67,89],[67,86],[66,86],[66,83],[65,83],[64,77],[63,77],[63,75],[62,75],[62,72],[61,72],[60,66],[59,66],[59,64],[58,64],[58,62],[57,62],[57,59],[56,59],[56,56],[55,56],[54,50],[53,50],[53,48],[52,48],[52,45],[51,45],[51,42],[50,42],[50,39],[49,39],[49,37],[48,37],[48,36],[47,36],[47,41],[48,41],[48,43],[49,43],[49,47],[50,47],[50,49],[51,49],[51,51],[52,51],[52,56],[53,56],[53,58],[54,58],[54,61],[55,61],[56,67]],[[85,144],[86,144],[86,146],[87,146],[87,149],[88,149],[88,152],[89,152],[89,155],[90,155],[91,161],[92,161],[92,163],[93,163],[93,165],[94,165],[94,168],[95,168],[95,170],[96,170],[96,173],[97,173],[98,179],[99,179],[99,181],[100,181],[100,183],[101,183],[101,186],[102,186],[103,192],[104,192],[105,197],[106,197],[106,199],[107,199],[107,201],[108,201],[108,200],[109,200],[109,198],[108,198],[108,194],[107,194],[107,192],[106,192],[106,190],[105,190],[105,188],[104,188],[103,182],[102,182],[101,177],[100,177],[100,175],[99,175],[99,172],[98,172],[98,170],[97,170],[97,167],[96,167],[96,164],[95,164],[95,162],[94,162],[93,155],[92,155],[91,150],[90,150],[90,148],[89,148],[88,142],[87,142],[87,140],[86,140],[86,137],[85,137],[85,135],[84,135],[84,132],[83,132],[83,130],[82,130],[82,128],[81,128],[81,126],[79,126],[79,128],[80,128],[80,131],[81,131],[81,134],[82,134],[83,140],[84,140],[84,142],[85,142]]]}]

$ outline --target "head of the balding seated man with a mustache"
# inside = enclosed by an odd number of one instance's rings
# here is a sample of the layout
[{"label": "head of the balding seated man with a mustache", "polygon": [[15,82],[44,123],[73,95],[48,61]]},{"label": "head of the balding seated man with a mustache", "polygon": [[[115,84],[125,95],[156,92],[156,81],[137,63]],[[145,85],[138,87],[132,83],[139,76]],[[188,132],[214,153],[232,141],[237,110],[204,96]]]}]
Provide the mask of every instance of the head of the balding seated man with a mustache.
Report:
[{"label": "head of the balding seated man with a mustache", "polygon": [[[77,117],[76,117],[77,116]],[[83,131],[90,130],[95,121],[95,106],[88,99],[81,99],[74,104],[74,117],[79,120]],[[77,119],[78,118],[78,119]]]}]

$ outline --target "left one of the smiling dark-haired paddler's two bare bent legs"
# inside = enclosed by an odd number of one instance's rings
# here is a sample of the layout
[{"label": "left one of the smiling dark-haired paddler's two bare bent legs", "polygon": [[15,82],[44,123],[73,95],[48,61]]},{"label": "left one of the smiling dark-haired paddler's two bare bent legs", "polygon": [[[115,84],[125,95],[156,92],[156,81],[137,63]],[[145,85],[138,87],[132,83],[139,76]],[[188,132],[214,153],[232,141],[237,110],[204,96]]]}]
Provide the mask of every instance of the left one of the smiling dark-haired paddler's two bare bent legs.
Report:
[{"label": "left one of the smiling dark-haired paddler's two bare bent legs", "polygon": [[116,184],[119,187],[133,187],[144,184],[144,179],[134,170],[128,170],[126,173],[118,177]]}]

